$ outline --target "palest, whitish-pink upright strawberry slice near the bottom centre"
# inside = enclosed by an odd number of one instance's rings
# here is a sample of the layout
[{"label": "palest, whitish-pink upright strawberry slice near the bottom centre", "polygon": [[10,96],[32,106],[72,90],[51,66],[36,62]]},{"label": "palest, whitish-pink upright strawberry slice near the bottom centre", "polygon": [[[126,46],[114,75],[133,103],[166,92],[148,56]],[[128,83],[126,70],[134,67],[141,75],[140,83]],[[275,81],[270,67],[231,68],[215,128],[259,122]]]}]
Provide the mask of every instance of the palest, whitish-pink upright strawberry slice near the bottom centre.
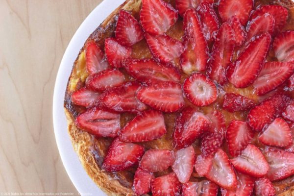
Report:
[{"label": "palest, whitish-pink upright strawberry slice near the bottom centre", "polygon": [[172,171],[181,183],[188,182],[193,172],[195,152],[192,146],[182,148],[174,153]]}]

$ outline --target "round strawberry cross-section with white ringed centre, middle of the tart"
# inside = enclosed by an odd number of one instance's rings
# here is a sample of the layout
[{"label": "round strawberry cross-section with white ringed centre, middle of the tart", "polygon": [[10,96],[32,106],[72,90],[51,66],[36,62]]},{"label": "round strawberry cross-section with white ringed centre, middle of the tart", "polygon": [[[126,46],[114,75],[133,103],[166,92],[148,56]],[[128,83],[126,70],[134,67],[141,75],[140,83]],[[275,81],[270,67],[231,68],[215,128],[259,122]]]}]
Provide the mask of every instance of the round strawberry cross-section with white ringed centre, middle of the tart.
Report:
[{"label": "round strawberry cross-section with white ringed centre, middle of the tart", "polygon": [[205,106],[218,97],[216,85],[202,73],[193,73],[183,83],[183,91],[196,106]]}]

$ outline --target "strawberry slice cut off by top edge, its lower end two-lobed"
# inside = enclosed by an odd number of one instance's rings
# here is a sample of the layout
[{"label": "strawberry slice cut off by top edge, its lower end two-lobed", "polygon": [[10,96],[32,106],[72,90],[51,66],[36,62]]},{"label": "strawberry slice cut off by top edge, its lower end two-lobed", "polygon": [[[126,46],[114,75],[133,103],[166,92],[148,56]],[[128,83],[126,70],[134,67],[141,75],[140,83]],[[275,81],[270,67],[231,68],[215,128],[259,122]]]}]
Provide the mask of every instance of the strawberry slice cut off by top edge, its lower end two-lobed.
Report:
[{"label": "strawberry slice cut off by top edge, its lower end two-lobed", "polygon": [[249,14],[253,9],[252,0],[220,0],[219,13],[223,22],[236,16],[242,25],[248,21]]}]

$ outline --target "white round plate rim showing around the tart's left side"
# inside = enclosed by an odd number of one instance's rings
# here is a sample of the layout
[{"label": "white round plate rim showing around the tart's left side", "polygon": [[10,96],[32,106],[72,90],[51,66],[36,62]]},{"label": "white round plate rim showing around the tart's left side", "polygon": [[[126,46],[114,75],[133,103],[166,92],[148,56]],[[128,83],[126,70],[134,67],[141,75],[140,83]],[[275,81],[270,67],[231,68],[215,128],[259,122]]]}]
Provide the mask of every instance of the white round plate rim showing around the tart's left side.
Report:
[{"label": "white round plate rim showing around the tart's left side", "polygon": [[83,47],[89,35],[100,25],[103,20],[124,0],[102,1],[84,20],[77,29],[65,50],[55,81],[53,96],[53,125],[55,139],[61,160],[77,191],[83,195],[106,196],[92,181],[83,169],[77,154],[73,150],[70,136],[67,131],[67,122],[63,110],[63,100],[68,78],[73,68],[73,62]]}]

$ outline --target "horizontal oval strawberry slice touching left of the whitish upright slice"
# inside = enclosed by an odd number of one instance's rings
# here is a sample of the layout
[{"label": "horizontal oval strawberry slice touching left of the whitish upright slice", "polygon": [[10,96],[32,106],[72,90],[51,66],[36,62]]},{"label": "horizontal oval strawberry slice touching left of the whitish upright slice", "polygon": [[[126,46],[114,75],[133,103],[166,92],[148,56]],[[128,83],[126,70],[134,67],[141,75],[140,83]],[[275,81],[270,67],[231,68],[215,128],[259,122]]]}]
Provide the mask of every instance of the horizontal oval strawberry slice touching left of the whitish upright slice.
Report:
[{"label": "horizontal oval strawberry slice touching left of the whitish upright slice", "polygon": [[140,166],[148,172],[161,172],[172,166],[173,161],[173,151],[150,149],[143,155]]}]

